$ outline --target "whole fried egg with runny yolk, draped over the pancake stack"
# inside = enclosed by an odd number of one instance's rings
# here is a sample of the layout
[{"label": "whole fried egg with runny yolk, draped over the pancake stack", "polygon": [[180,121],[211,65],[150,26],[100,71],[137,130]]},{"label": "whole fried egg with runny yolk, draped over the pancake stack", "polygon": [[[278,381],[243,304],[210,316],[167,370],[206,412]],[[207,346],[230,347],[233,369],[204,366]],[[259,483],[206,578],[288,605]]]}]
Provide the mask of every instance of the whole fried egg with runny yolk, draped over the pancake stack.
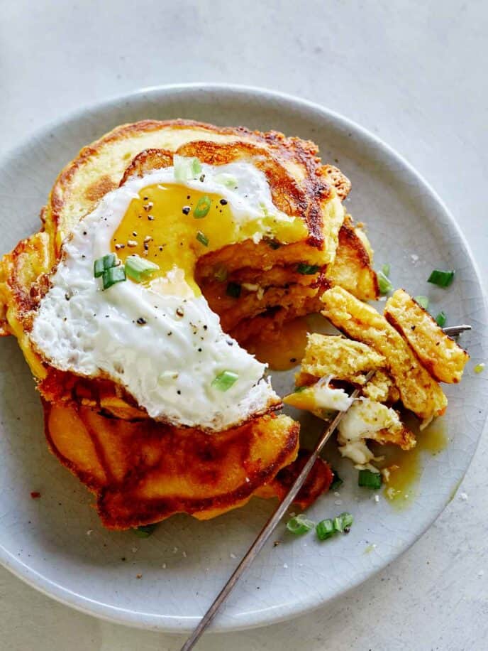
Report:
[{"label": "whole fried egg with runny yolk, draped over the pancake stack", "polygon": [[[109,377],[154,419],[227,429],[280,401],[266,366],[223,332],[194,281],[196,261],[227,244],[289,243],[305,232],[275,208],[253,164],[175,156],[105,195],[74,227],[30,339],[52,367]],[[111,253],[120,281],[104,289],[94,265]],[[128,273],[135,256],[152,265],[139,281]]]}]

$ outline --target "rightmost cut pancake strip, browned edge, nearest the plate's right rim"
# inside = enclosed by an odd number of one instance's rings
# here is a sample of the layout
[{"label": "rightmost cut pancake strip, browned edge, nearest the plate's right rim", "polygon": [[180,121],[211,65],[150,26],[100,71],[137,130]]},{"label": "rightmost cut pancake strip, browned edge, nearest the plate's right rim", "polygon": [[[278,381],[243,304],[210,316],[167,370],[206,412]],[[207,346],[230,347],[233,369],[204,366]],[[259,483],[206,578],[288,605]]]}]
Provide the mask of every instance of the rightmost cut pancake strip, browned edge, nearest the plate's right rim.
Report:
[{"label": "rightmost cut pancake strip, browned edge, nearest the plate's right rim", "polygon": [[448,337],[414,298],[397,289],[384,306],[384,316],[439,382],[459,382],[470,355]]}]

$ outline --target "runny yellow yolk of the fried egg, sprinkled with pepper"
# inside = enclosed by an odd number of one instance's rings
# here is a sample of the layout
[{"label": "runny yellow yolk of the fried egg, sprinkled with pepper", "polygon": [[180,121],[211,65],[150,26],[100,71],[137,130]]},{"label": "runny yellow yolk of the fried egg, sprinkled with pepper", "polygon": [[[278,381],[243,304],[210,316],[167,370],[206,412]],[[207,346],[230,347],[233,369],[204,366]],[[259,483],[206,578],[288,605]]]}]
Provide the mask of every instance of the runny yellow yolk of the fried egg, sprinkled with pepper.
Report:
[{"label": "runny yellow yolk of the fried egg, sprinkled with pepper", "polygon": [[111,249],[122,262],[137,254],[157,264],[149,281],[174,267],[182,269],[187,289],[200,296],[194,280],[199,257],[256,235],[288,244],[303,239],[306,226],[299,217],[279,220],[265,209],[250,219],[235,220],[231,204],[218,194],[158,183],[143,188],[131,201]]}]

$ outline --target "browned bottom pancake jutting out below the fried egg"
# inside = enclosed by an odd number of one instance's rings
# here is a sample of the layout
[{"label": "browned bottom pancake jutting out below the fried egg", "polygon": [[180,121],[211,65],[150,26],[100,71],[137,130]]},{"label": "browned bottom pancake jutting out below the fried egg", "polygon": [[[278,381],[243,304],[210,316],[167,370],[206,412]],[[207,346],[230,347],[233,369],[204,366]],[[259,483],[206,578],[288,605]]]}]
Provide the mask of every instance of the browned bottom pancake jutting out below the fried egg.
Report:
[{"label": "browned bottom pancake jutting out below the fried egg", "polygon": [[112,529],[177,512],[205,519],[243,505],[298,450],[299,425],[288,416],[270,414],[208,436],[73,404],[44,409],[51,450],[96,493],[101,520]]}]

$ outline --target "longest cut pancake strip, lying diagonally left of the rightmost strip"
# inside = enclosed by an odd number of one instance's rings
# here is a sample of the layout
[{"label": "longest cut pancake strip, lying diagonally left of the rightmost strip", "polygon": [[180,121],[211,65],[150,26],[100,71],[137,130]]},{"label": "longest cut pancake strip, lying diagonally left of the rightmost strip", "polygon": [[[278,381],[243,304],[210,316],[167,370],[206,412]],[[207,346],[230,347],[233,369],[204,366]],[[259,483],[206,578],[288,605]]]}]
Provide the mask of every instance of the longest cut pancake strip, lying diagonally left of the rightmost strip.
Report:
[{"label": "longest cut pancake strip, lying diagonally left of the rightmost strip", "polygon": [[384,316],[341,287],[326,290],[321,301],[323,316],[338,330],[370,345],[384,356],[387,371],[407,409],[424,421],[444,413],[448,401],[439,384],[418,361],[409,343]]}]

